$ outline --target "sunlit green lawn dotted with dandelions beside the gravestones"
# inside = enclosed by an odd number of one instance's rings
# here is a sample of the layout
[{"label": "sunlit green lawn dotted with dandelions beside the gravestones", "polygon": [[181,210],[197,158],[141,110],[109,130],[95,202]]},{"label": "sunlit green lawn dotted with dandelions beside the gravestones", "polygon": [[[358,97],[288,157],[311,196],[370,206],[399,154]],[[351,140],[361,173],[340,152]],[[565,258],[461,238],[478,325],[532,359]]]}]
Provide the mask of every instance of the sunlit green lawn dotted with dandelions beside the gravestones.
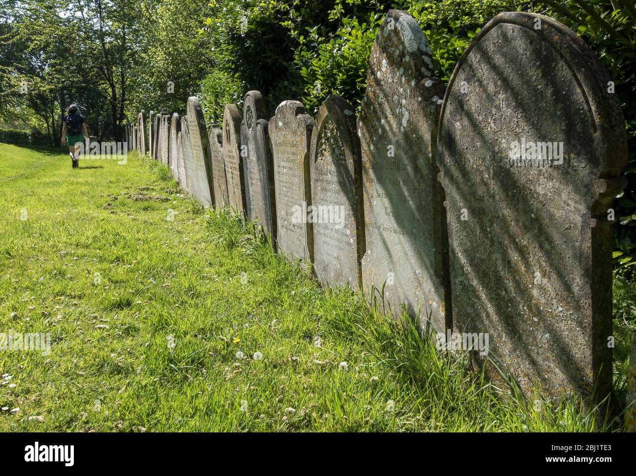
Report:
[{"label": "sunlit green lawn dotted with dandelions beside the gravestones", "polygon": [[182,193],[135,153],[73,170],[0,144],[0,332],[52,334],[49,355],[0,352],[0,407],[20,409],[0,431],[602,428],[486,384]]}]

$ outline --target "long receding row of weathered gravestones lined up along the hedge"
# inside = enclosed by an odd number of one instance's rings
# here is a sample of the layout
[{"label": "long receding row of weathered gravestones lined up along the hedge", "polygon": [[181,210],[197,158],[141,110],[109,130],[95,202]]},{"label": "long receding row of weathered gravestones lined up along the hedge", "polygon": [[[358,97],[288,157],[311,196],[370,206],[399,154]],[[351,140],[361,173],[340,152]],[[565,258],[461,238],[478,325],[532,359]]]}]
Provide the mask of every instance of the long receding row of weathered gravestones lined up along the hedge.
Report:
[{"label": "long receding row of weathered gravestones lined up along the hedge", "polygon": [[[385,17],[366,96],[297,101],[267,120],[261,95],[206,134],[187,113],[151,112],[150,150],[205,205],[258,220],[279,253],[404,306],[421,325],[486,335],[527,395],[611,392],[612,199],[625,121],[600,61],[574,32],[501,13],[446,86],[417,22]],[[397,306],[397,307],[396,307]],[[482,342],[482,341],[480,341]]]}]

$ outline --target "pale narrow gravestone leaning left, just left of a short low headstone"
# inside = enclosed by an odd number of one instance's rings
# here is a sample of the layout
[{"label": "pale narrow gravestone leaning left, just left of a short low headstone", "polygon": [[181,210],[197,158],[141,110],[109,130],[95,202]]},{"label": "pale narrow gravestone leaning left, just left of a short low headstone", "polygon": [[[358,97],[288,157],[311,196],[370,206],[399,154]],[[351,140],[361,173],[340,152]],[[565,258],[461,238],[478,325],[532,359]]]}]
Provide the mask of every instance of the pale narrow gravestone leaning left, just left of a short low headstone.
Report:
[{"label": "pale narrow gravestone leaning left, just left of a short low headstone", "polygon": [[214,204],[212,160],[208,154],[207,127],[205,127],[203,109],[195,96],[188,98],[188,127],[197,178],[194,194],[204,206],[210,206]]}]

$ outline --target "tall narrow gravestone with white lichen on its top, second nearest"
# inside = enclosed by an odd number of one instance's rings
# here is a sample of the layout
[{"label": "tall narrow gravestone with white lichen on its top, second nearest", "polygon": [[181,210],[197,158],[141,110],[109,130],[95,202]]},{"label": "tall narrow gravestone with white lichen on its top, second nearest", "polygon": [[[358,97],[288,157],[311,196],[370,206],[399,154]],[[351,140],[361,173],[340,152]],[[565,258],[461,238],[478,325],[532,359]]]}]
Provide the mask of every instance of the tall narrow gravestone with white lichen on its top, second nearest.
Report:
[{"label": "tall narrow gravestone with white lichen on its top, second nearest", "polygon": [[[399,314],[430,316],[445,332],[448,237],[432,142],[444,85],[432,78],[431,48],[413,17],[389,10],[371,50],[358,119],[366,253],[363,288]],[[396,309],[397,308],[397,309]],[[450,318],[450,313],[448,314]]]}]

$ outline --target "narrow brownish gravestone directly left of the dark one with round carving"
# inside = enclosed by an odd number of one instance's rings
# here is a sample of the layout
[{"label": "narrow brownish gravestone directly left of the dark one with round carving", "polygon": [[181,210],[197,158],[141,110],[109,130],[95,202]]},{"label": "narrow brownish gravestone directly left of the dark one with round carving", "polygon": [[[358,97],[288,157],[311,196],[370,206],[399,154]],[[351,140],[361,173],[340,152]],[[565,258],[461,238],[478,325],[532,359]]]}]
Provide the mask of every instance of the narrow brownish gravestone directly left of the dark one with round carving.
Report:
[{"label": "narrow brownish gravestone directly left of the dark one with round carving", "polygon": [[228,204],[239,214],[244,214],[245,190],[243,160],[240,157],[240,115],[236,104],[225,106],[223,113],[223,161],[228,182]]}]

